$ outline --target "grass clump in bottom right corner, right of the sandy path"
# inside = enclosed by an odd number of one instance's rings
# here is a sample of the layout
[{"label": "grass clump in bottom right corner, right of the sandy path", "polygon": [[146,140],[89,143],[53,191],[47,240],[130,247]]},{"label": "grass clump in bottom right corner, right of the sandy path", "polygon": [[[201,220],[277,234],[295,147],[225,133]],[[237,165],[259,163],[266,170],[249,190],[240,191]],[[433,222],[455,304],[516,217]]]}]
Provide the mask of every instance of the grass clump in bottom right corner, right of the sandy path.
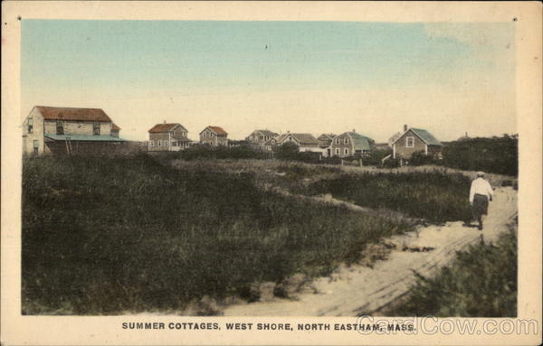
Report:
[{"label": "grass clump in bottom right corner, right of the sandy path", "polygon": [[436,317],[517,316],[517,232],[510,227],[496,245],[480,243],[457,253],[437,276],[418,276],[405,303],[387,315]]}]

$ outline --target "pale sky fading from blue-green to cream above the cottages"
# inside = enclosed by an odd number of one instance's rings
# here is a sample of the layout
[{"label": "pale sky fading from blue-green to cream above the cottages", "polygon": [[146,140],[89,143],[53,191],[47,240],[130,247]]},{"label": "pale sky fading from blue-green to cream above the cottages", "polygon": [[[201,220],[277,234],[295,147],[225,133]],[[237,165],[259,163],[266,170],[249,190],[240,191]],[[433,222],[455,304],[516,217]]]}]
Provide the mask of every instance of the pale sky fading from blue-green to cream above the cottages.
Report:
[{"label": "pale sky fading from blue-green to cream above the cottages", "polygon": [[196,140],[516,133],[514,23],[23,20],[21,47],[23,118],[102,108],[131,140],[163,121]]}]

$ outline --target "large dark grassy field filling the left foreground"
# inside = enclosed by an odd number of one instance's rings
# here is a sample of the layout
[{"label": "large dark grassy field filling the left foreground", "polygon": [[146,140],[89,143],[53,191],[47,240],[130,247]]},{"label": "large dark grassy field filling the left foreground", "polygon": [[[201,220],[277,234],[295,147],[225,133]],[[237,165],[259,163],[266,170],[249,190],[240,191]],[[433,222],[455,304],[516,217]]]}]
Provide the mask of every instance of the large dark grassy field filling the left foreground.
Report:
[{"label": "large dark grassy field filling the left foreground", "polygon": [[133,157],[24,160],[24,314],[179,311],[320,276],[405,224]]}]

